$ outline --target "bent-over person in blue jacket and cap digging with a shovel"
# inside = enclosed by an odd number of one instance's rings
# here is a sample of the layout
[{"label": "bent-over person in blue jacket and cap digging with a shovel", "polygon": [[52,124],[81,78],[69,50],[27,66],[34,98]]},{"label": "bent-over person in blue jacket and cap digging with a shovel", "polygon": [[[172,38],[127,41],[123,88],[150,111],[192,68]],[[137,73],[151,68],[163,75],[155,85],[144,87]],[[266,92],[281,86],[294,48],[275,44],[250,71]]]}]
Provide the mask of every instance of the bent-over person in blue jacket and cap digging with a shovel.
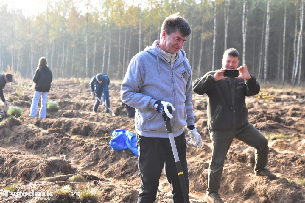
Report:
[{"label": "bent-over person in blue jacket and cap digging with a shovel", "polygon": [[[107,106],[110,108],[110,99],[109,99],[109,87],[108,87],[108,76],[104,74],[97,74],[91,78],[90,81],[90,88],[91,88],[91,96],[95,98],[95,103],[93,106],[93,111],[97,112],[99,107],[99,100],[95,97],[96,96],[101,99],[103,97],[103,106]],[[106,113],[109,113],[109,109],[105,107]]]}]

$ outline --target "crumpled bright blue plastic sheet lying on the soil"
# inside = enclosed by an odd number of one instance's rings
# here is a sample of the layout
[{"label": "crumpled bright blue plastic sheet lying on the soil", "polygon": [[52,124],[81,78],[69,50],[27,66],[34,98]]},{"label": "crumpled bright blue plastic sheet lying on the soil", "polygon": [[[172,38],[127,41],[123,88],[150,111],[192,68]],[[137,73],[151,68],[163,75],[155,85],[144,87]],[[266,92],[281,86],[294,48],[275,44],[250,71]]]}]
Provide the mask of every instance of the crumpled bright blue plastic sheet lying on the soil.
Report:
[{"label": "crumpled bright blue plastic sheet lying on the soil", "polygon": [[130,149],[135,156],[139,156],[137,147],[137,136],[131,132],[122,129],[116,129],[112,133],[112,139],[109,144],[115,152],[123,149]]}]

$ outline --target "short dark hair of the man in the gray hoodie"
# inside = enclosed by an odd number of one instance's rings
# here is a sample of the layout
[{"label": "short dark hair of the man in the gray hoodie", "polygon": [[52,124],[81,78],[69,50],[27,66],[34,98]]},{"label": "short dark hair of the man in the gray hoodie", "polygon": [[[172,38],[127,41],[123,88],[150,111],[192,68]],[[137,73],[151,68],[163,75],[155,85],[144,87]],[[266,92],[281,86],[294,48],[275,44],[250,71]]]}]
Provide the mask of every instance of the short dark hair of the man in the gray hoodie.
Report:
[{"label": "short dark hair of the man in the gray hoodie", "polygon": [[173,13],[165,18],[161,27],[160,39],[162,39],[163,30],[165,30],[168,35],[171,35],[171,33],[174,33],[177,30],[183,37],[187,37],[191,34],[191,27],[189,26],[188,21],[179,16],[179,13]]}]

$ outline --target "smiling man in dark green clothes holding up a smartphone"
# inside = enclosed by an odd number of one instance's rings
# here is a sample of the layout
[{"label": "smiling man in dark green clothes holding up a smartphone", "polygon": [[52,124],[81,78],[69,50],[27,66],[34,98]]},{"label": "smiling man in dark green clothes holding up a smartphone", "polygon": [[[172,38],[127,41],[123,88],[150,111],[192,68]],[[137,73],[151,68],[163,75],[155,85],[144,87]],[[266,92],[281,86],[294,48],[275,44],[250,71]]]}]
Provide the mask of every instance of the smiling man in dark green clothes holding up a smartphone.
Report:
[{"label": "smiling man in dark green clothes holding up a smartphone", "polygon": [[[212,158],[208,170],[206,198],[210,202],[223,203],[218,190],[224,160],[233,138],[255,148],[254,172],[257,176],[276,179],[276,176],[265,168],[268,162],[268,140],[247,119],[246,96],[259,93],[260,85],[256,78],[249,74],[246,64],[239,67],[238,64],[238,51],[229,48],[224,52],[221,69],[210,71],[193,82],[195,93],[207,94]],[[226,70],[238,70],[239,75],[223,76]]]}]

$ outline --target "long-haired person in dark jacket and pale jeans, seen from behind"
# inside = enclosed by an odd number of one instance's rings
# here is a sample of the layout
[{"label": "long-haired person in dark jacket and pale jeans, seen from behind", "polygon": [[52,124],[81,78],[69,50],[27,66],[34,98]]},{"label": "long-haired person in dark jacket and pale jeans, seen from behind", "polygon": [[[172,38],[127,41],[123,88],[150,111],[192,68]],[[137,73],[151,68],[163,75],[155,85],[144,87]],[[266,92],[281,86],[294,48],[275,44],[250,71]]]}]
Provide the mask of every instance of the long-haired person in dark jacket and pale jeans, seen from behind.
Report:
[{"label": "long-haired person in dark jacket and pale jeans, seen from behind", "polygon": [[33,77],[33,81],[36,83],[36,85],[30,110],[31,117],[36,117],[37,106],[40,98],[41,107],[39,110],[39,117],[46,117],[48,93],[51,89],[52,77],[52,71],[47,66],[47,59],[45,57],[41,57]]}]

